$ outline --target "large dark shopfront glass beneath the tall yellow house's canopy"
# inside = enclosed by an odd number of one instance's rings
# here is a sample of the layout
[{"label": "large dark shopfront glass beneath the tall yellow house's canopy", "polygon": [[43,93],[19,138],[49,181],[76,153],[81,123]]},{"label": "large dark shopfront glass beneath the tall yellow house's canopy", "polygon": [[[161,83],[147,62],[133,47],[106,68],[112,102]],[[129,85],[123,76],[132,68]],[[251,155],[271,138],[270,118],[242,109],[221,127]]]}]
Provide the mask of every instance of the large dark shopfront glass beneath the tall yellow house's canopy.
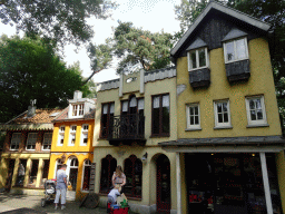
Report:
[{"label": "large dark shopfront glass beneath the tall yellow house's canopy", "polygon": [[[274,213],[279,214],[275,157],[266,158]],[[187,154],[185,163],[189,213],[267,213],[258,154]]]}]

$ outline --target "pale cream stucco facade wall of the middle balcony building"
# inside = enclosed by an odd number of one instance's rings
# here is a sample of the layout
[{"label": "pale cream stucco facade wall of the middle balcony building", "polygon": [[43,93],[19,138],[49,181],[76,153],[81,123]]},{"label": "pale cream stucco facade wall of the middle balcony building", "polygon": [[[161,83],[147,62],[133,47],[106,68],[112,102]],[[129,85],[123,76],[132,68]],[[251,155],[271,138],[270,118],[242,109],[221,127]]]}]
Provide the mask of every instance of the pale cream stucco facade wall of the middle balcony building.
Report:
[{"label": "pale cream stucco facade wall of the middle balcony building", "polygon": [[[132,75],[128,77],[132,77]],[[128,77],[124,77],[122,97],[119,97],[119,89],[110,89],[99,91],[97,94],[97,110],[95,118],[94,129],[94,163],[96,163],[96,188],[98,193],[100,188],[100,174],[101,174],[101,159],[108,154],[117,159],[117,165],[124,167],[124,160],[130,155],[136,155],[137,158],[142,157],[145,153],[148,153],[147,162],[142,162],[142,195],[141,200],[129,200],[131,204],[151,206],[156,204],[156,158],[159,154],[165,154],[170,162],[170,181],[171,181],[171,210],[176,210],[177,206],[177,191],[176,191],[176,165],[175,154],[166,153],[158,146],[159,142],[168,142],[177,139],[177,119],[176,119],[176,78],[168,78],[163,80],[156,80],[145,84],[145,93],[139,93],[140,81],[139,72],[136,85],[126,84]],[[126,86],[127,85],[127,86]],[[170,98],[170,136],[169,137],[150,137],[151,136],[151,96],[159,94],[168,94]],[[106,139],[100,139],[100,118],[101,118],[101,104],[115,101],[115,116],[120,115],[121,104],[124,99],[129,99],[130,95],[135,95],[137,98],[144,97],[145,99],[145,146],[110,146]]]}]

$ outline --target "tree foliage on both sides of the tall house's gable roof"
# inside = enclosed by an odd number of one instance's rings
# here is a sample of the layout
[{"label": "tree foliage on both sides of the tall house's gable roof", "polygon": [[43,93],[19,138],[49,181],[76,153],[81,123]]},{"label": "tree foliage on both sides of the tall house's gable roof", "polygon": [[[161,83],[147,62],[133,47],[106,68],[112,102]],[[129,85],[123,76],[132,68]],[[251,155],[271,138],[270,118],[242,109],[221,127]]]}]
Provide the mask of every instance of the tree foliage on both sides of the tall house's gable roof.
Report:
[{"label": "tree foliage on both sides of the tall house's gable roof", "polygon": [[[208,0],[183,0],[176,6],[176,16],[181,31],[198,17]],[[242,12],[272,25],[274,33],[269,38],[271,57],[279,111],[285,118],[285,1],[276,0],[227,0],[219,1]]]}]

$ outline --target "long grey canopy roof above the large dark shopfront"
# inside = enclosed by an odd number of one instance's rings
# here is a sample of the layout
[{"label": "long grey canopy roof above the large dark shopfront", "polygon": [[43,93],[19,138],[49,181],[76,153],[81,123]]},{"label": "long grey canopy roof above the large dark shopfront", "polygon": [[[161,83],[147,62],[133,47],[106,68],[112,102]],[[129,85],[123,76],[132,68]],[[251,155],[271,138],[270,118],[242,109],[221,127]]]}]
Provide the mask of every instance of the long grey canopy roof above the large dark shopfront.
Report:
[{"label": "long grey canopy roof above the large dark shopfront", "polygon": [[173,153],[277,153],[285,149],[282,136],[189,138],[158,143]]}]

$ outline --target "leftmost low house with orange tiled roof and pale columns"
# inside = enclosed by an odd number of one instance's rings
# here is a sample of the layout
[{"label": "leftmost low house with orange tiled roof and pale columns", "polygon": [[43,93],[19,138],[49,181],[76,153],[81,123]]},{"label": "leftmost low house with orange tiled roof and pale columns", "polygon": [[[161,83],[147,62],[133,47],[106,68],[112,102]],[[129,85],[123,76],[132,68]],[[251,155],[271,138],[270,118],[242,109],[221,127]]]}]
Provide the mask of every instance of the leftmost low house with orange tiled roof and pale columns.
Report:
[{"label": "leftmost low house with orange tiled roof and pale columns", "polygon": [[29,109],[0,126],[6,142],[0,163],[0,188],[11,194],[43,194],[48,178],[52,119],[61,109]]}]

